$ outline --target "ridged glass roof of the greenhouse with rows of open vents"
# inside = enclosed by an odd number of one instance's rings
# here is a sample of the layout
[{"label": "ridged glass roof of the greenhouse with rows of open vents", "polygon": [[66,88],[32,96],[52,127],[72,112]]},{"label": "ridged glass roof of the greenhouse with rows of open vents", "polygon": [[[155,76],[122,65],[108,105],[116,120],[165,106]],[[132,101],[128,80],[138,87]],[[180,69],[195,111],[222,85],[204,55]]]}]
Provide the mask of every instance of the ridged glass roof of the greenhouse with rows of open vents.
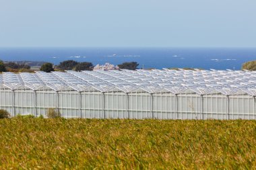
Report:
[{"label": "ridged glass roof of the greenhouse with rows of open vents", "polygon": [[256,96],[256,71],[185,71],[137,70],[137,71],[66,71],[44,73],[0,74],[1,88],[11,90],[49,88],[54,91],[123,91],[132,93],[179,94],[191,90],[199,95],[218,91],[232,95],[238,91]]}]

